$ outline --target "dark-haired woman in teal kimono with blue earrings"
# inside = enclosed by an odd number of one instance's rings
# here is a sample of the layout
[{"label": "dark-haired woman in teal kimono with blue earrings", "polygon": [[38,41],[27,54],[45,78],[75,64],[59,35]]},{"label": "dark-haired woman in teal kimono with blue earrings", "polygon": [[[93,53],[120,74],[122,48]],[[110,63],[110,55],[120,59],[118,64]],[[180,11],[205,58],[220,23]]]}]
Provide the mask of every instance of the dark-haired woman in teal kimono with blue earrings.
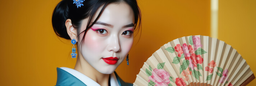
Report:
[{"label": "dark-haired woman in teal kimono with blue earrings", "polygon": [[73,46],[74,69],[57,68],[56,86],[131,86],[114,71],[125,58],[129,65],[128,52],[140,20],[136,0],[60,1],[52,26],[59,37],[72,39],[78,51]]}]

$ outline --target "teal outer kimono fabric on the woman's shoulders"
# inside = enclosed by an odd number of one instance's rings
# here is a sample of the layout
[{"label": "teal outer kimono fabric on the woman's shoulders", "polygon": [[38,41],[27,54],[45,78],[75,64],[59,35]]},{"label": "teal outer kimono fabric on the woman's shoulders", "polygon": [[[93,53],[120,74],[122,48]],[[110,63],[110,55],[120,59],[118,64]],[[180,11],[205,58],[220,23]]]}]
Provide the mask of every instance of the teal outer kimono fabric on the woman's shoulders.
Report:
[{"label": "teal outer kimono fabric on the woman's shoulders", "polygon": [[[124,82],[117,74],[114,72],[119,86],[132,86],[131,83]],[[77,77],[73,76],[69,72],[57,67],[57,82],[56,86],[87,86]]]}]

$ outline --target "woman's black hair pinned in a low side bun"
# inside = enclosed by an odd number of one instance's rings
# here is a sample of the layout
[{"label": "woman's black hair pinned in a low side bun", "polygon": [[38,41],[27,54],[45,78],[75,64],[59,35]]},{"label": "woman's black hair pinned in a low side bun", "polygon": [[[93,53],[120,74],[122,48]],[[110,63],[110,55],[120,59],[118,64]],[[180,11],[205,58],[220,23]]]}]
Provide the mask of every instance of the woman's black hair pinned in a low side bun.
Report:
[{"label": "woman's black hair pinned in a low side bun", "polygon": [[[92,27],[93,24],[96,23],[97,19],[99,19],[102,11],[106,8],[106,6],[110,3],[121,3],[121,2],[125,2],[129,6],[131,6],[134,13],[134,24],[135,24],[134,30],[136,29],[137,26],[138,26],[137,28],[140,29],[141,11],[137,5],[136,0],[85,0],[82,3],[84,6],[81,6],[79,8],[77,8],[76,4],[73,4],[73,0],[62,0],[55,7],[52,14],[52,27],[54,29],[54,32],[61,38],[70,39],[67,33],[67,28],[65,26],[66,20],[71,19],[73,27],[77,28],[77,32],[79,32],[81,29],[82,20],[89,17],[86,29],[83,31],[84,35],[81,41],[83,42],[85,33],[89,28]],[[92,22],[93,16],[101,6],[103,7],[100,10],[99,15],[97,16],[96,20]],[[137,25],[137,23],[139,24]]]}]

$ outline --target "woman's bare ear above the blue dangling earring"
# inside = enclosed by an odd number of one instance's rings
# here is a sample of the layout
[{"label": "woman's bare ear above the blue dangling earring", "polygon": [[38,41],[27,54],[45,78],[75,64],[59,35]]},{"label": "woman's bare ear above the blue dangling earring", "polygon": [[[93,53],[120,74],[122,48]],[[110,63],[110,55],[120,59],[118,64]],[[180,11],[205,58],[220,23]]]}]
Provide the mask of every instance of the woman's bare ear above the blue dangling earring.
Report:
[{"label": "woman's bare ear above the blue dangling earring", "polygon": [[77,41],[77,29],[73,27],[71,19],[67,19],[65,25],[70,39],[75,39]]}]

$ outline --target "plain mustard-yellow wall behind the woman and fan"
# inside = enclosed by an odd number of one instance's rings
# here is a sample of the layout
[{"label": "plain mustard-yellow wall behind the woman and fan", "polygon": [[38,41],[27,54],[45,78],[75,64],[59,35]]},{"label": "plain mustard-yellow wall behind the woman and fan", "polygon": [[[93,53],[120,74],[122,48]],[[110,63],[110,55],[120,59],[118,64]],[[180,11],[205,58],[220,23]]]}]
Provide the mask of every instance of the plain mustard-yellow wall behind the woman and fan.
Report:
[{"label": "plain mustard-yellow wall behind the woman and fan", "polygon": [[[51,25],[52,11],[59,1],[0,1],[1,86],[52,86],[56,84],[56,67],[74,67],[70,40],[60,40]],[[237,49],[256,73],[255,0],[219,2],[219,39]],[[129,52],[130,65],[124,61],[116,69],[130,83],[143,62],[163,44],[188,35],[210,36],[209,0],[138,0],[138,5],[142,33],[135,37]],[[248,86],[253,84],[256,80]]]}]

